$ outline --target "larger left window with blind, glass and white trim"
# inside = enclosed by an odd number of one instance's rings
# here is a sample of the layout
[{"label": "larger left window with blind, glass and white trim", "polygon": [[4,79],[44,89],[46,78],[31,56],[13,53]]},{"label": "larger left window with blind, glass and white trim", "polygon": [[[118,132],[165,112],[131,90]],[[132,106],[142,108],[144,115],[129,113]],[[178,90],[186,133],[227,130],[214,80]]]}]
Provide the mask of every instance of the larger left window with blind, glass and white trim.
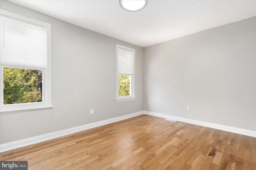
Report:
[{"label": "larger left window with blind, glass and white trim", "polygon": [[0,10],[0,111],[53,107],[51,25]]}]

